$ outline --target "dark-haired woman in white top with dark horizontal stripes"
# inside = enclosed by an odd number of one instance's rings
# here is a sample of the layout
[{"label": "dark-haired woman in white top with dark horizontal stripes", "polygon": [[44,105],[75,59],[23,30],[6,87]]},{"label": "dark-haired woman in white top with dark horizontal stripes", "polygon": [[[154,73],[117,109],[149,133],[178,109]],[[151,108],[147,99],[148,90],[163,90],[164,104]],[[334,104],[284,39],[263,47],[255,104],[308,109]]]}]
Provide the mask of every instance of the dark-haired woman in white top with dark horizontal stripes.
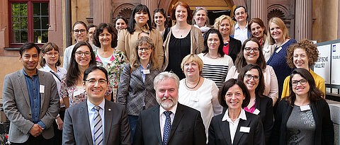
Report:
[{"label": "dark-haired woman in white top with dark horizontal stripes", "polygon": [[232,58],[223,52],[222,35],[216,29],[210,29],[205,34],[205,50],[198,54],[203,61],[203,76],[205,79],[214,81],[218,88],[225,81],[230,67],[234,66]]}]

